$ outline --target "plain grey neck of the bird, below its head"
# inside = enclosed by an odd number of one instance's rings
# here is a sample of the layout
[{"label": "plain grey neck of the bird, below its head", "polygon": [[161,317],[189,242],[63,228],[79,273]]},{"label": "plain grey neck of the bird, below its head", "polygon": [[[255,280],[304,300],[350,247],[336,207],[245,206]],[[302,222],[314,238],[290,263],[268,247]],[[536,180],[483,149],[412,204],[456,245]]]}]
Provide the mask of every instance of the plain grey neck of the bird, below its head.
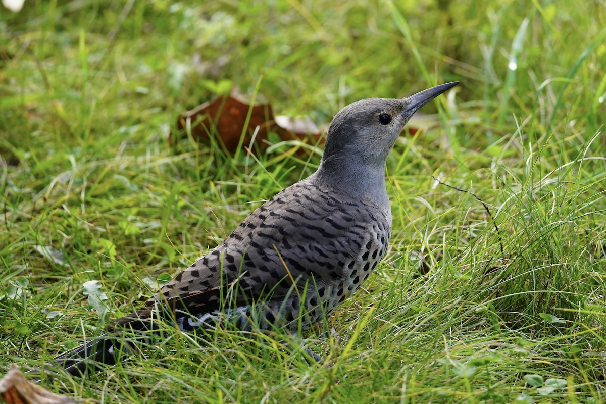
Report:
[{"label": "plain grey neck of the bird, below its head", "polygon": [[382,208],[389,207],[385,190],[385,162],[331,157],[322,159],[309,179],[316,185],[353,199],[368,200]]}]

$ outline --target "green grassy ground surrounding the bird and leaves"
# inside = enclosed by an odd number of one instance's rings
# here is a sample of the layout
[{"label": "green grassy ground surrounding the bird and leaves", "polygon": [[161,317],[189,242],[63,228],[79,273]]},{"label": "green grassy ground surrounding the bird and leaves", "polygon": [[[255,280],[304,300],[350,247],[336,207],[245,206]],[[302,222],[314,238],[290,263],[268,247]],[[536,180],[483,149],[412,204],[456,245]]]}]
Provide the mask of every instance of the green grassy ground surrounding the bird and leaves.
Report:
[{"label": "green grassy ground surrounding the bird and leaves", "polygon": [[104,403],[604,401],[606,3],[457,3],[2,9],[2,371],[100,333],[318,164],[288,144],[254,159],[170,150],[182,111],[258,86],[278,113],[322,123],[459,80],[425,108],[441,125],[391,154],[391,250],[304,335],[323,362],[167,328],[121,365],[45,387]]}]

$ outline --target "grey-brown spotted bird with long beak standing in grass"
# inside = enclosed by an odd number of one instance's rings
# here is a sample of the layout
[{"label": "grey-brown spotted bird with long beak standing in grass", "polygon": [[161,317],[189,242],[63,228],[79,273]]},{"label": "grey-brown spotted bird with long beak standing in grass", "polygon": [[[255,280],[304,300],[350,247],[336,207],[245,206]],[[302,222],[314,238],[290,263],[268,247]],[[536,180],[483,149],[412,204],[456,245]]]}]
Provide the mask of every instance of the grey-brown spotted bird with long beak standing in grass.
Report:
[{"label": "grey-brown spotted bird with long beak standing in grass", "polygon": [[330,314],[387,252],[391,206],[385,164],[396,139],[419,108],[457,84],[342,108],[328,127],[313,174],[258,207],[141,310],[56,357],[48,364],[52,371],[82,376],[89,368],[115,364],[119,351],[128,350],[115,336],[123,329],[153,329],[157,317],[185,332],[221,326],[296,331]]}]

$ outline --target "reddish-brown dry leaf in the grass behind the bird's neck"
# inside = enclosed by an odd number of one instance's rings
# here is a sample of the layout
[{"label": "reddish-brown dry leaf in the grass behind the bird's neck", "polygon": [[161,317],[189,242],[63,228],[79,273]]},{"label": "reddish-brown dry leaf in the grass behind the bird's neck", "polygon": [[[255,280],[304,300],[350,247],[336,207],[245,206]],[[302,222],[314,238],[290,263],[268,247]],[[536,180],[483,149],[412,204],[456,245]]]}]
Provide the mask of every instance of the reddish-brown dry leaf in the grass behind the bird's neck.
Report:
[{"label": "reddish-brown dry leaf in the grass behind the bird's neck", "polygon": [[[249,110],[250,120],[245,130],[242,147],[250,145],[255,131],[257,132],[254,143],[263,150],[268,147],[268,143],[265,142],[268,131],[277,133],[282,141],[302,140],[308,134],[316,140],[321,136],[321,131],[310,119],[293,119],[287,116],[274,117],[271,105],[257,104],[251,106],[239,99],[234,91],[230,96],[204,102],[204,104],[182,114],[177,121],[177,128],[181,133],[184,132],[185,128],[190,128],[191,136],[198,142],[208,141],[208,134],[216,129],[216,133],[221,137],[225,148],[233,152],[238,148]],[[177,141],[178,139],[173,139],[171,133],[168,137],[168,144],[173,145]]]}]

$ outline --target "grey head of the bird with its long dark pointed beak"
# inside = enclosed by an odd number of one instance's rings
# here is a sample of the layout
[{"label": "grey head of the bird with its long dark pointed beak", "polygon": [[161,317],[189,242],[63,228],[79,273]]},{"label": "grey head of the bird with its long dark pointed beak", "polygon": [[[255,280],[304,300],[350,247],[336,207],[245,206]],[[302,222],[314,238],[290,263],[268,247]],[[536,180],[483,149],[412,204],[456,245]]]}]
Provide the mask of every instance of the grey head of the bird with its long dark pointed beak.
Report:
[{"label": "grey head of the bird with its long dark pointed beak", "polygon": [[408,98],[368,98],[347,105],[328,128],[322,164],[361,160],[365,164],[376,164],[382,170],[408,119],[457,84],[459,82],[438,85]]}]

